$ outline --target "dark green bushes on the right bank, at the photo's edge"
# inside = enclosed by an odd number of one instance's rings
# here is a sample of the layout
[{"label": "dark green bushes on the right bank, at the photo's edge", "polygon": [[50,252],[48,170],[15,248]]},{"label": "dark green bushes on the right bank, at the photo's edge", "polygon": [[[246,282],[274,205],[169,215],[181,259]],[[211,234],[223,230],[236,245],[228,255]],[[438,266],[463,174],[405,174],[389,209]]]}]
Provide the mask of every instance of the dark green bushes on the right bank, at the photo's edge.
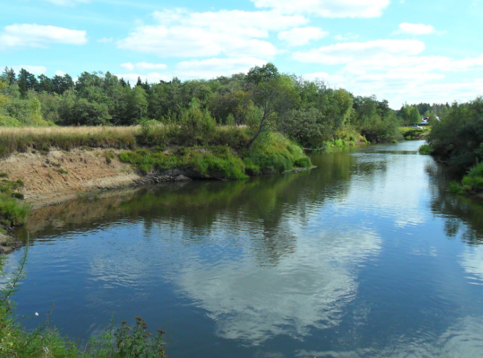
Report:
[{"label": "dark green bushes on the right bank, at the photo's edge", "polygon": [[436,156],[457,174],[466,174],[451,191],[475,192],[483,189],[483,98],[453,103],[447,114],[434,123],[427,137],[425,153]]}]

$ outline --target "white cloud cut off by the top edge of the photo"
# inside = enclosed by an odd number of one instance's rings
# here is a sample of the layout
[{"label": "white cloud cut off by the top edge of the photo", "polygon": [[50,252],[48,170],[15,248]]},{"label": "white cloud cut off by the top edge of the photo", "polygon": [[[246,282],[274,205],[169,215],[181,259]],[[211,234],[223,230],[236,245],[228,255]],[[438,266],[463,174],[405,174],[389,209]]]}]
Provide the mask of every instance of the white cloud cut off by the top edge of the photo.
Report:
[{"label": "white cloud cut off by the top edge of the photo", "polygon": [[272,8],[283,14],[314,14],[329,18],[378,17],[389,0],[250,0],[257,8]]}]

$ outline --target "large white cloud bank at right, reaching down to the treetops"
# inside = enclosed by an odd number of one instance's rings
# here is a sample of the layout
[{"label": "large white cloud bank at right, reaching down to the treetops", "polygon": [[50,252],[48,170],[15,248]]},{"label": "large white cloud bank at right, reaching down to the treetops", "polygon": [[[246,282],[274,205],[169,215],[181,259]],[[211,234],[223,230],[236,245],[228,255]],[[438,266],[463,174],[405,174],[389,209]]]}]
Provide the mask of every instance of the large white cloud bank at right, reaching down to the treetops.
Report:
[{"label": "large white cloud bank at right, reaching down to the treetops", "polygon": [[[454,59],[421,56],[424,43],[417,40],[378,40],[368,43],[338,43],[307,52],[294,53],[301,62],[339,65],[335,72],[308,73],[356,95],[377,94],[392,108],[403,102],[467,101],[483,93],[483,55]],[[470,72],[471,80],[461,80]],[[480,71],[480,72],[478,72]],[[458,77],[451,74],[458,73]],[[475,79],[475,77],[477,77]]]}]

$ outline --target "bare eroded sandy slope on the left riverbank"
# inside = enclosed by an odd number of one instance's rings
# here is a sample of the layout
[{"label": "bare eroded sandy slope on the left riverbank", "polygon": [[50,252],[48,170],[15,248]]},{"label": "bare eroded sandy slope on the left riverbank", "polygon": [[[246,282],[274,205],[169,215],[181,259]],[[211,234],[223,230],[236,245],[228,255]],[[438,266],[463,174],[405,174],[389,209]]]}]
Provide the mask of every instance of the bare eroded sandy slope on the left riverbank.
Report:
[{"label": "bare eroded sandy slope on the left riverbank", "polygon": [[123,187],[141,176],[119,162],[118,150],[51,150],[47,154],[16,153],[0,161],[0,172],[10,180],[21,179],[21,192],[34,208],[75,198],[93,189]]}]

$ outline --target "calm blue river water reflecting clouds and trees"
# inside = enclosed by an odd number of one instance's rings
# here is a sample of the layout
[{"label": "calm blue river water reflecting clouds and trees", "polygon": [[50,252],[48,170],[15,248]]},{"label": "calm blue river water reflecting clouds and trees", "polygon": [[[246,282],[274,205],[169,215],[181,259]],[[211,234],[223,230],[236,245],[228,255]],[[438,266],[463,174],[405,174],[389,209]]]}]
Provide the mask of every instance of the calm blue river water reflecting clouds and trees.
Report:
[{"label": "calm blue river water reflecting clouds and trees", "polygon": [[422,143],[35,211],[16,313],[34,327],[55,302],[75,339],[139,315],[172,358],[479,357],[483,206]]}]

